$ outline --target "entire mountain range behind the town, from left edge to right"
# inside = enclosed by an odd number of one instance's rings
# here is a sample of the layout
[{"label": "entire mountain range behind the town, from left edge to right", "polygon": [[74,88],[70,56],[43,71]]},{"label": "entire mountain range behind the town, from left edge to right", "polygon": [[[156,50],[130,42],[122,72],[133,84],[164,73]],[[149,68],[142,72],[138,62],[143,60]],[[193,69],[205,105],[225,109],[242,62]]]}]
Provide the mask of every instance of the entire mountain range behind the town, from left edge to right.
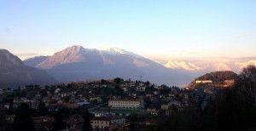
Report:
[{"label": "entire mountain range behind the town, from left edge to right", "polygon": [[[154,62],[154,61],[158,62]],[[0,86],[69,83],[122,77],[156,84],[188,85],[195,77],[211,71],[235,71],[256,64],[255,58],[146,59],[120,48],[72,46],[52,56],[21,61],[5,49],[0,50]]]}]

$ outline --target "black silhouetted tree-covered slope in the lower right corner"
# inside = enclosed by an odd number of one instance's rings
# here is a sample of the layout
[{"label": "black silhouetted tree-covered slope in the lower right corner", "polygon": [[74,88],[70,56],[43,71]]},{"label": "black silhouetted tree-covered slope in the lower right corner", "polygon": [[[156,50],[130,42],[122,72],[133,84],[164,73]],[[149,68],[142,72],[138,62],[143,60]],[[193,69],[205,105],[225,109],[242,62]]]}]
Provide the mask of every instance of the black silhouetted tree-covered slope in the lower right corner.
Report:
[{"label": "black silhouetted tree-covered slope in the lower right corner", "polygon": [[[139,130],[158,131],[256,131],[256,67],[244,68],[231,88],[220,89],[204,108],[188,106],[171,116],[157,117],[157,124]],[[136,128],[135,130],[137,130]]]}]

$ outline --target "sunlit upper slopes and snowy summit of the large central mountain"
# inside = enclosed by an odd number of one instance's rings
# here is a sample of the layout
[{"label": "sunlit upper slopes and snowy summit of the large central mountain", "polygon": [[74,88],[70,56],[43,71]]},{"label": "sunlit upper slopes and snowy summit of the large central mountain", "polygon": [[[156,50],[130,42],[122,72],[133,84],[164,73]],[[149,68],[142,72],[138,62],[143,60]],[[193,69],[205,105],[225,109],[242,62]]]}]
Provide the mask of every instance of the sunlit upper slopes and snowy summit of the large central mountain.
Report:
[{"label": "sunlit upper slopes and snowy summit of the large central mountain", "polygon": [[76,62],[90,62],[96,60],[98,61],[98,63],[103,63],[104,65],[113,65],[117,64],[118,62],[121,62],[119,58],[125,58],[125,56],[132,58],[133,63],[137,66],[149,65],[148,63],[142,61],[142,56],[133,54],[131,52],[119,48],[95,49],[83,48],[82,46],[72,46],[55,53],[46,60],[43,60],[42,62],[38,63],[36,67],[42,69],[50,69],[56,65]]}]

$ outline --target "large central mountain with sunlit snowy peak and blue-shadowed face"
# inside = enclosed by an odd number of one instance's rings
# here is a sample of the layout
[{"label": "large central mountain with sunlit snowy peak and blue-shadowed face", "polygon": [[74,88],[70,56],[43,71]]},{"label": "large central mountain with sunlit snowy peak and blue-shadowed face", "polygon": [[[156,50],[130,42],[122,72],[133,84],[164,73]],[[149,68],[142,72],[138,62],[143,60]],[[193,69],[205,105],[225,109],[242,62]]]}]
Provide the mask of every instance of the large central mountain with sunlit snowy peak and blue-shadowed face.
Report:
[{"label": "large central mountain with sunlit snowy peak and blue-shadowed face", "polygon": [[119,48],[99,50],[73,46],[42,60],[35,67],[47,70],[60,82],[113,77],[139,80],[138,76],[143,76],[143,81],[168,85],[189,83],[192,80],[192,77]]}]

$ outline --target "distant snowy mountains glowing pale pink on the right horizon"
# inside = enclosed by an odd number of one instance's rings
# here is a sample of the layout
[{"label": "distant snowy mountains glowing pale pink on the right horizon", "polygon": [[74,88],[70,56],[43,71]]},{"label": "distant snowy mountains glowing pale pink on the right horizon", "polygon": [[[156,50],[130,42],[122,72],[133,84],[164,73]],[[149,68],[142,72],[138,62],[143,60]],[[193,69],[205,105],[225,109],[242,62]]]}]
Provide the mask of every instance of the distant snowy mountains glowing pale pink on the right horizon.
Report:
[{"label": "distant snowy mountains glowing pale pink on the right horizon", "polygon": [[211,71],[234,71],[239,73],[247,65],[256,65],[256,57],[172,58],[148,56],[148,58],[158,61],[161,65],[165,65],[170,69],[201,75]]}]

